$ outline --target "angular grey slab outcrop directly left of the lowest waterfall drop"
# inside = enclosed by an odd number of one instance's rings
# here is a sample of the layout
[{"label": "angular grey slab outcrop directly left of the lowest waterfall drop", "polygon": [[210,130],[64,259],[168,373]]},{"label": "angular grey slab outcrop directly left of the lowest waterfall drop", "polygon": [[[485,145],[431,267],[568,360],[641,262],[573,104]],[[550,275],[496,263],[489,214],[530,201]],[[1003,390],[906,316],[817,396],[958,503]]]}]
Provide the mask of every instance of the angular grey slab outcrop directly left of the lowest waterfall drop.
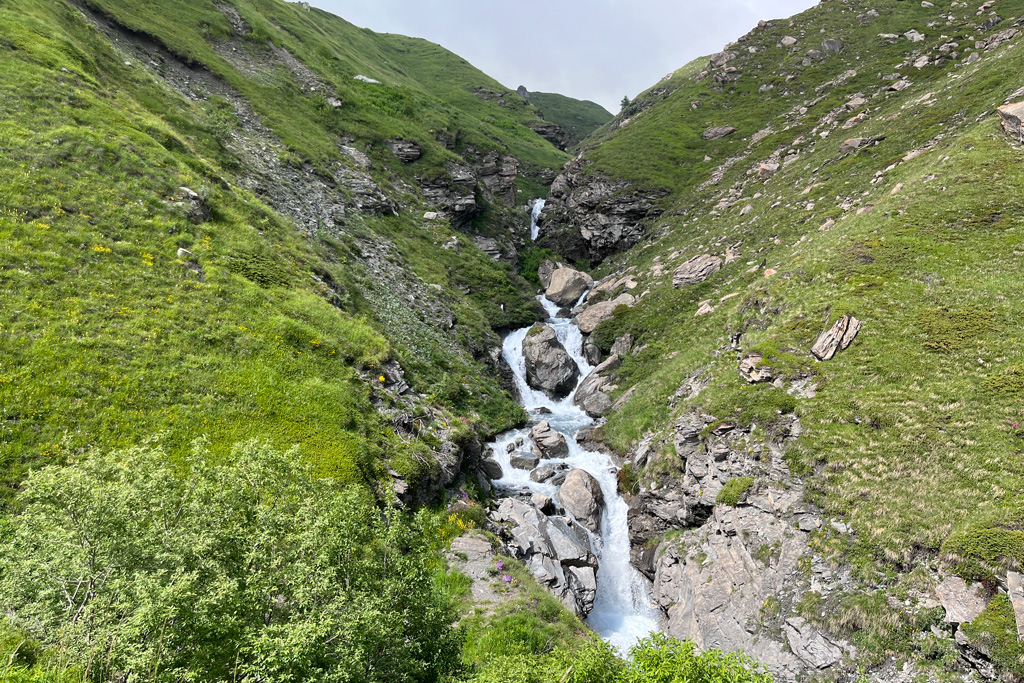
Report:
[{"label": "angular grey slab outcrop directly left of the lowest waterfall drop", "polygon": [[501,525],[509,551],[562,604],[581,617],[591,612],[597,595],[597,558],[586,530],[514,498],[502,501],[492,519]]}]

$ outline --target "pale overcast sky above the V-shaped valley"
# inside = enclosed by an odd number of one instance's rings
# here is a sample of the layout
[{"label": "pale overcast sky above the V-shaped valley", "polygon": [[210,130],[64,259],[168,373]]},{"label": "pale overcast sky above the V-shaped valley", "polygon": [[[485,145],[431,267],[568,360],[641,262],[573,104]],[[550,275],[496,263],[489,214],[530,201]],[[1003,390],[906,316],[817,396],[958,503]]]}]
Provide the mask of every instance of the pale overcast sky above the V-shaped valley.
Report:
[{"label": "pale overcast sky above the V-shaped valley", "polygon": [[515,88],[618,111],[663,76],[760,19],[814,0],[312,0],[378,33],[426,38]]}]

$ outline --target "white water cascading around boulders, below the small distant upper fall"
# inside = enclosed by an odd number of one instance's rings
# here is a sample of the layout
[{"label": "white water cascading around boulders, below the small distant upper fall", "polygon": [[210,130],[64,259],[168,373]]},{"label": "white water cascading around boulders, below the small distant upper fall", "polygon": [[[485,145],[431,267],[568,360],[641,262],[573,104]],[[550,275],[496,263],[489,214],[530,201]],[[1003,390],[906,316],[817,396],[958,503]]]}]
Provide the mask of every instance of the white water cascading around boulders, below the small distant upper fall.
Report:
[{"label": "white water cascading around boulders, below the small distant upper fall", "polygon": [[[547,298],[541,297],[541,303],[550,315],[548,325],[555,330],[558,341],[580,367],[581,378],[586,377],[593,367],[583,355],[583,335],[580,329],[568,318],[556,317],[558,306]],[[601,485],[605,503],[601,533],[592,535],[594,554],[597,555],[599,562],[597,597],[594,610],[587,618],[587,623],[621,653],[626,654],[638,640],[658,628],[657,613],[651,607],[651,597],[646,582],[630,564],[630,537],[627,525],[629,507],[618,495],[616,468],[611,460],[604,454],[584,450],[575,440],[579,430],[594,423],[592,418],[572,403],[575,390],[562,400],[553,400],[526,384],[522,341],[528,331],[529,328],[523,328],[509,334],[505,338],[502,354],[515,375],[523,408],[535,414],[539,409],[551,411],[550,415],[544,415],[544,419],[561,432],[568,443],[569,453],[565,458],[547,462],[566,463],[569,467],[587,470]],[[501,463],[503,472],[503,477],[495,483],[500,490],[527,488],[554,498],[558,493],[557,486],[537,483],[529,478],[529,472],[511,466],[506,446],[520,437],[528,440],[529,429],[506,432],[495,441],[495,456]]]}]

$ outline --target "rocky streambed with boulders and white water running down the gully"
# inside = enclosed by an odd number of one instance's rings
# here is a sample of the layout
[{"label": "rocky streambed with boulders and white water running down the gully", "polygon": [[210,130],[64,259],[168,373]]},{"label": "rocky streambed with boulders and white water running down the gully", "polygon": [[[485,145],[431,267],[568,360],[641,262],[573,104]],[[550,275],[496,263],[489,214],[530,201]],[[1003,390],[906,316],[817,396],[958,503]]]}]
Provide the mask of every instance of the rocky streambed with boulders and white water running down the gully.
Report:
[{"label": "rocky streambed with boulders and white water running down the gully", "polygon": [[[575,293],[579,299],[586,287]],[[571,298],[563,294],[561,300]],[[503,355],[515,376],[527,428],[489,445],[487,474],[503,498],[492,519],[538,580],[625,652],[658,628],[650,580],[630,563],[629,506],[609,455],[580,437],[594,425],[580,388],[596,369],[580,328],[546,297],[549,319],[510,333]],[[570,302],[571,303],[571,302]]]}]

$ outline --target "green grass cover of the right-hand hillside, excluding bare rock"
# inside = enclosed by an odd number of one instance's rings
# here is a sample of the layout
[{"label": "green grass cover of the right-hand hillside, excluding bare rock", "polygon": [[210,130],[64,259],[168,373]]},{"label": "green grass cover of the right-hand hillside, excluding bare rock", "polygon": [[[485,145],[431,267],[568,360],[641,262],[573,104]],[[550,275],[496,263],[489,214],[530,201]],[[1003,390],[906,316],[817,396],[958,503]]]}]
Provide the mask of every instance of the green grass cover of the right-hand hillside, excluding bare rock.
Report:
[{"label": "green grass cover of the right-hand hillside, excluding bare rock", "polygon": [[[810,503],[854,529],[822,531],[821,552],[854,565],[864,593],[905,590],[923,568],[994,589],[1024,565],[1024,151],[995,114],[1022,98],[1024,3],[984,9],[821,3],[728,46],[725,67],[680,70],[587,142],[584,177],[668,190],[649,242],[599,271],[632,268],[645,293],[595,333],[607,347],[630,332],[642,349],[623,364],[615,396],[632,394],[605,438],[671,454],[686,413],[796,414],[791,467]],[[714,126],[735,132],[705,139]],[[706,253],[722,270],[674,288],[673,270]],[[812,344],[844,313],[860,335],[816,361]],[[753,352],[777,387],[740,377]],[[687,398],[694,377],[710,384]],[[816,396],[787,391],[795,381]],[[1010,650],[997,666],[1021,675]]]}]

